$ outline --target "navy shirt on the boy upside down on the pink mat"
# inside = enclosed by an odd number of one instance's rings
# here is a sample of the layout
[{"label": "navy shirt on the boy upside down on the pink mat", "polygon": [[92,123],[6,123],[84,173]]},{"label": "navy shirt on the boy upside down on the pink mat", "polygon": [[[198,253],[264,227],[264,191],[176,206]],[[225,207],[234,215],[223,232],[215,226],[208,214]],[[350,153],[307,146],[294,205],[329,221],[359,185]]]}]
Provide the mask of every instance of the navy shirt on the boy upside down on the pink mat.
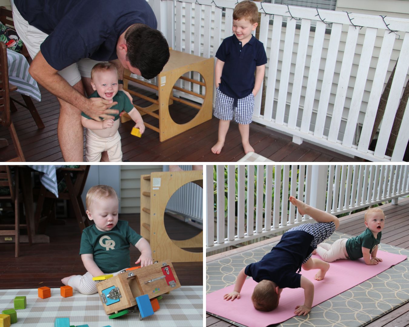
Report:
[{"label": "navy shirt on the boy upside down on the pink mat", "polygon": [[271,280],[281,289],[301,287],[301,275],[297,271],[313,251],[313,238],[313,235],[305,231],[284,233],[280,242],[259,262],[251,263],[245,268],[245,274],[256,282]]}]

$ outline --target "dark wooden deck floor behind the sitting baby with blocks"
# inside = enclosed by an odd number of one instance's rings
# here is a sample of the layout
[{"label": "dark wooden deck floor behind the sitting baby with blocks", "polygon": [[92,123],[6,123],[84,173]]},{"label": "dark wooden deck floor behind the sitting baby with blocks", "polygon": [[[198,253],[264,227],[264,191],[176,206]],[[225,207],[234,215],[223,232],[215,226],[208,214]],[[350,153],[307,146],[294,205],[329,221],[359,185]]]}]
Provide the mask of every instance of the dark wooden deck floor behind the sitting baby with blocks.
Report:
[{"label": "dark wooden deck floor behind the sitting baby with blocks", "polygon": [[[120,214],[119,219],[128,220],[139,233],[139,214]],[[63,286],[61,278],[86,272],[79,253],[81,233],[76,219],[65,219],[65,225],[47,226],[45,234],[49,243],[20,244],[20,256],[14,258],[14,243],[0,243],[0,289],[24,289],[41,286]],[[190,238],[199,230],[178,219],[165,216],[166,231],[172,239],[181,235]],[[131,262],[139,258],[139,251],[131,246]],[[135,259],[134,261],[132,261]],[[202,262],[172,262],[182,285],[203,284]]]}]

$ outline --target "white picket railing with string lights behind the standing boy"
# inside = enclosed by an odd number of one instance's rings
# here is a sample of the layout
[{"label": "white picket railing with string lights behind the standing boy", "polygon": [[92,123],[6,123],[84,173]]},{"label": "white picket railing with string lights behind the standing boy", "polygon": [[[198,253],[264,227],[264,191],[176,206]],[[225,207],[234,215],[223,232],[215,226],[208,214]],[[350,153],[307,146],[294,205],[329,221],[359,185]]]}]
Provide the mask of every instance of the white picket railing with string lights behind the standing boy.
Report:
[{"label": "white picket railing with string lights behind the standing boy", "polygon": [[[148,2],[158,29],[176,50],[209,58],[231,35],[236,0]],[[402,161],[409,141],[409,110],[392,155],[385,153],[408,79],[409,20],[256,4],[268,62],[265,105],[261,108],[259,92],[253,121],[292,134],[296,143],[306,139],[371,161]],[[371,151],[378,103],[397,60],[378,142]]]}]

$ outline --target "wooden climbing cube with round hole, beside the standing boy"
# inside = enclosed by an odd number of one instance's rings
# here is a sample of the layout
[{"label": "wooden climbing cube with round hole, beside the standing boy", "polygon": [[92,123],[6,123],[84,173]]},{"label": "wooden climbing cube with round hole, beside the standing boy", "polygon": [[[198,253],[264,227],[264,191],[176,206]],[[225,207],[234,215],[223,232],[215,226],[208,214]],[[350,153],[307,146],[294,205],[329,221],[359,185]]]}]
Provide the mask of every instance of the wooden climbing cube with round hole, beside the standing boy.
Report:
[{"label": "wooden climbing cube with round hole, beside the standing boy", "polygon": [[[214,70],[214,59],[213,58],[203,58],[200,56],[195,56],[193,54],[187,54],[184,52],[170,50],[170,58],[168,63],[166,63],[165,67],[163,68],[162,72],[157,76],[157,81],[159,85],[153,85],[151,83],[146,83],[144,81],[139,81],[135,78],[130,77],[130,72],[127,70],[124,73],[124,90],[128,91],[130,94],[138,96],[141,99],[145,99],[153,104],[142,108],[138,105],[134,105],[141,114],[148,114],[159,119],[159,128],[145,123],[147,128],[151,128],[159,133],[160,141],[165,141],[175,135],[178,135],[190,128],[193,128],[205,121],[211,119],[212,115],[212,102],[213,102],[213,70]],[[182,76],[187,72],[198,72],[202,75],[204,82],[196,81],[191,78],[187,78]],[[182,79],[191,83],[196,83],[201,85],[202,87],[206,87],[205,95],[195,93],[191,90],[183,89],[178,86],[174,86],[175,82],[178,79]],[[144,96],[143,94],[131,91],[128,89],[128,81],[133,81],[138,84],[142,84],[144,86],[150,87],[153,90],[157,90],[159,94],[159,99],[151,99],[148,96]],[[173,90],[178,90],[181,92],[185,92],[187,94],[191,94],[194,96],[198,96],[203,99],[203,104],[198,105],[191,101],[187,101],[184,99],[180,99],[178,97],[173,96]],[[173,101],[178,101],[184,103],[186,105],[191,106],[195,110],[198,110],[196,116],[189,122],[184,124],[178,124],[173,121],[171,115],[169,113],[169,105],[173,103]],[[154,111],[159,110],[158,113]],[[121,121],[127,121],[130,117],[128,114],[124,114],[121,116]]]}]

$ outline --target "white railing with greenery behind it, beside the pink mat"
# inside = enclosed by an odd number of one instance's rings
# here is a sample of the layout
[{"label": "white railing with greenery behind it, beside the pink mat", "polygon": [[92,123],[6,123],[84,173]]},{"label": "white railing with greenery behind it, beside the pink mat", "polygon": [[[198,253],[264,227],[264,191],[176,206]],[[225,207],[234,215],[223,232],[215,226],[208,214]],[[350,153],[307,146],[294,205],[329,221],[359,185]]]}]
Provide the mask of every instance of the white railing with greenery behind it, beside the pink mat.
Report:
[{"label": "white railing with greenery behind it, beside the pink mat", "polygon": [[[285,231],[310,220],[307,215],[301,216],[296,211],[288,201],[289,195],[334,215],[387,200],[397,204],[398,197],[409,195],[408,165],[220,165],[215,167],[216,181],[213,181],[213,166],[206,167],[207,252]],[[255,167],[257,167],[256,176]],[[226,173],[227,186],[225,185]],[[214,201],[214,186],[216,186],[216,201]],[[245,210],[246,194],[247,209]],[[225,210],[225,201],[227,201],[227,210]],[[265,202],[264,205],[263,202]]]}]

